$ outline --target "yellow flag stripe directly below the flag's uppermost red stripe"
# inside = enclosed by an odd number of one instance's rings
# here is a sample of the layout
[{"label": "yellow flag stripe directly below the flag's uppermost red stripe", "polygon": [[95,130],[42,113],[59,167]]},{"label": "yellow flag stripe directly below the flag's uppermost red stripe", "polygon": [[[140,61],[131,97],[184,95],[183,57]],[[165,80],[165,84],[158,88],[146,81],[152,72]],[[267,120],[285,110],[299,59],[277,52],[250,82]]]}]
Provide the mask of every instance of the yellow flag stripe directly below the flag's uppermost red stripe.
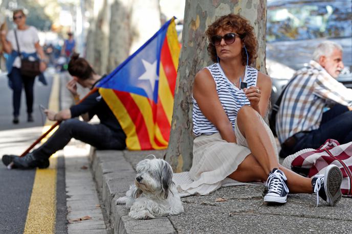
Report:
[{"label": "yellow flag stripe directly below the flag's uppermost red stripe", "polygon": [[158,90],[159,100],[167,116],[167,120],[171,126],[172,111],[173,111],[173,96],[162,65],[160,66],[159,71],[160,71],[159,90]]}]

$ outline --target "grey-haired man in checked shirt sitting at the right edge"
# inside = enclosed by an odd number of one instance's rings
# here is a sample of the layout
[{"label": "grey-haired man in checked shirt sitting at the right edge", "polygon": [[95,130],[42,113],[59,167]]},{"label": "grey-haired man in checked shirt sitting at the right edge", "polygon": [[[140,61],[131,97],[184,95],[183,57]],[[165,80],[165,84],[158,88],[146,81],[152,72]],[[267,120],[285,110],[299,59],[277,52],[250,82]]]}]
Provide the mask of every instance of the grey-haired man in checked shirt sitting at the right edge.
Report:
[{"label": "grey-haired man in checked shirt sitting at the right edge", "polygon": [[336,80],[343,67],[341,45],[324,41],[309,67],[294,75],[276,115],[280,157],[317,149],[329,138],[340,144],[352,141],[352,89]]}]

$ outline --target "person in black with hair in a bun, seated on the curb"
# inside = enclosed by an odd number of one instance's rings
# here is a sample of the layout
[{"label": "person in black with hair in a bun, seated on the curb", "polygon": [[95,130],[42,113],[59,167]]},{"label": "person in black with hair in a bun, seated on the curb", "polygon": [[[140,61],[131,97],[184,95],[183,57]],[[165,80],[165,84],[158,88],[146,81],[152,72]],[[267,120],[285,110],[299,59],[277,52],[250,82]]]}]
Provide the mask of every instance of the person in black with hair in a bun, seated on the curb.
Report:
[{"label": "person in black with hair in a bun, seated on the curb", "polygon": [[[68,67],[73,80],[68,82],[67,88],[75,100],[79,100],[77,83],[82,87],[93,89],[102,79],[102,76],[96,74],[84,58],[78,56],[78,54],[72,56]],[[47,168],[49,157],[67,145],[72,137],[100,150],[123,150],[126,147],[126,135],[114,113],[100,96],[98,89],[70,109],[61,110],[58,113],[46,109],[45,113],[49,120],[62,121],[59,128],[47,142],[23,157],[4,155],[2,160],[6,166],[11,163],[11,168]],[[75,119],[79,115],[84,121],[89,121],[97,115],[100,123],[89,124]]]}]

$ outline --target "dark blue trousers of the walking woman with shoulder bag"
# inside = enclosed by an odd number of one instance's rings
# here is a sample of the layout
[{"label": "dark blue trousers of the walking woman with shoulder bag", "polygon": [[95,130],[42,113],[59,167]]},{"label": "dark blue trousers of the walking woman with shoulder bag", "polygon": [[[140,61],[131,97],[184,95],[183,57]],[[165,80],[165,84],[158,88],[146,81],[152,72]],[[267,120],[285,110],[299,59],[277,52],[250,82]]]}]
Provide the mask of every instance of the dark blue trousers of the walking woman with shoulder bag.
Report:
[{"label": "dark blue trousers of the walking woman with shoulder bag", "polygon": [[35,77],[27,77],[21,75],[19,68],[12,67],[12,71],[9,74],[9,78],[12,84],[12,105],[13,105],[13,116],[19,115],[19,107],[21,105],[21,94],[22,88],[25,88],[26,93],[26,104],[27,104],[27,113],[33,112],[33,89],[34,89],[34,80]]}]

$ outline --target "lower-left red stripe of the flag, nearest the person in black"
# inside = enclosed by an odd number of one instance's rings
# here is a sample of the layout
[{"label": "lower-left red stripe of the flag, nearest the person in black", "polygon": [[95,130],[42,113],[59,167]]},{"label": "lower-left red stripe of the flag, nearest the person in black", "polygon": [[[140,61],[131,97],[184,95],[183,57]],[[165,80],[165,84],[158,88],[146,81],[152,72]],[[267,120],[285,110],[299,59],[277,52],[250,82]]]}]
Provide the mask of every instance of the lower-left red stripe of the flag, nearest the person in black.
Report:
[{"label": "lower-left red stripe of the flag, nearest the person in black", "polygon": [[128,114],[136,126],[136,134],[139,139],[139,144],[141,146],[141,150],[152,149],[150,144],[148,129],[145,125],[145,121],[140,112],[140,109],[136,105],[133,98],[130,96],[129,92],[117,91],[114,90],[116,96],[121,100],[124,104]]}]

